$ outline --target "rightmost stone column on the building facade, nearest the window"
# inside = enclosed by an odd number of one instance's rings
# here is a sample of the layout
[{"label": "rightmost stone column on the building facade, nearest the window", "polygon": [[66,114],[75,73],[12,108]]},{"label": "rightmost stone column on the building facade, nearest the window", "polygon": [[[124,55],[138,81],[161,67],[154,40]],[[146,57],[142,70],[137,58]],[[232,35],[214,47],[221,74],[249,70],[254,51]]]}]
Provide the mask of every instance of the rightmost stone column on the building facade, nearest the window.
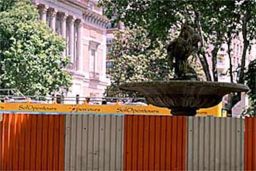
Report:
[{"label": "rightmost stone column on the building facade, nearest the window", "polygon": [[77,60],[76,68],[78,71],[83,71],[83,47],[82,47],[82,34],[83,31],[83,20],[77,20]]}]

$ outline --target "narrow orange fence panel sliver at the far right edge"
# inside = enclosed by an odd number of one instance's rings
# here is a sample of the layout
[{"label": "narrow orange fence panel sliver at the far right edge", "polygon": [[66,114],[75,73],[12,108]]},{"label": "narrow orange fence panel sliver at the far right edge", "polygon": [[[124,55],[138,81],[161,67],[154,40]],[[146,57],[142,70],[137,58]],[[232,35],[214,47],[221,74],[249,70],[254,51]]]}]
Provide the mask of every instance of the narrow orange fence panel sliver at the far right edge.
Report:
[{"label": "narrow orange fence panel sliver at the far right edge", "polygon": [[256,170],[256,117],[245,117],[244,169]]}]

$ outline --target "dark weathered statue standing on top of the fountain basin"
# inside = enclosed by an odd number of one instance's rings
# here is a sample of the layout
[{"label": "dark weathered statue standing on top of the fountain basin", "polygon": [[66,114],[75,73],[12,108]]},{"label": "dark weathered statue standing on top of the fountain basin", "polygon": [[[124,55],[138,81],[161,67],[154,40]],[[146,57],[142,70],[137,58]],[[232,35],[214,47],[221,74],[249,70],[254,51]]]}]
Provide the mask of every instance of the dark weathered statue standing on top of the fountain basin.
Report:
[{"label": "dark weathered statue standing on top of the fountain basin", "polygon": [[195,33],[194,28],[184,23],[177,39],[170,42],[167,48],[168,62],[171,69],[174,68],[174,78],[178,80],[198,80],[195,70],[189,65],[187,58],[198,49],[200,35]]}]

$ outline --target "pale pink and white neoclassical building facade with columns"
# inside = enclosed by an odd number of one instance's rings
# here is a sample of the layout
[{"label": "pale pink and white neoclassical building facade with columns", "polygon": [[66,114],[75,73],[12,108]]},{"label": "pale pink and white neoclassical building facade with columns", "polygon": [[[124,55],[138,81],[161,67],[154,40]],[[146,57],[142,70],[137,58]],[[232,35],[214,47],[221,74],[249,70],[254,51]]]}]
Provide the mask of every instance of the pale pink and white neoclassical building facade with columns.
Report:
[{"label": "pale pink and white neoclassical building facade with columns", "polygon": [[73,85],[67,96],[101,97],[106,78],[106,26],[108,18],[97,0],[33,0],[40,20],[66,39],[63,55],[70,57],[67,70]]}]

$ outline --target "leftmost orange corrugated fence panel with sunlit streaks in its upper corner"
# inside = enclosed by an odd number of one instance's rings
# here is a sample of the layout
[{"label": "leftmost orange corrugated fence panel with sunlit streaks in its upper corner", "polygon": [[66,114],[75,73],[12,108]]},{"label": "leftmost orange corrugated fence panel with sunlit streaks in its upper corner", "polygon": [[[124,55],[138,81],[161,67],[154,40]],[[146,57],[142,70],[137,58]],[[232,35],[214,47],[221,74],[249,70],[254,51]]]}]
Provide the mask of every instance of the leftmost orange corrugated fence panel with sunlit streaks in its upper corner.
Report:
[{"label": "leftmost orange corrugated fence panel with sunlit streaks in its upper corner", "polygon": [[63,115],[4,114],[0,170],[64,169]]}]

